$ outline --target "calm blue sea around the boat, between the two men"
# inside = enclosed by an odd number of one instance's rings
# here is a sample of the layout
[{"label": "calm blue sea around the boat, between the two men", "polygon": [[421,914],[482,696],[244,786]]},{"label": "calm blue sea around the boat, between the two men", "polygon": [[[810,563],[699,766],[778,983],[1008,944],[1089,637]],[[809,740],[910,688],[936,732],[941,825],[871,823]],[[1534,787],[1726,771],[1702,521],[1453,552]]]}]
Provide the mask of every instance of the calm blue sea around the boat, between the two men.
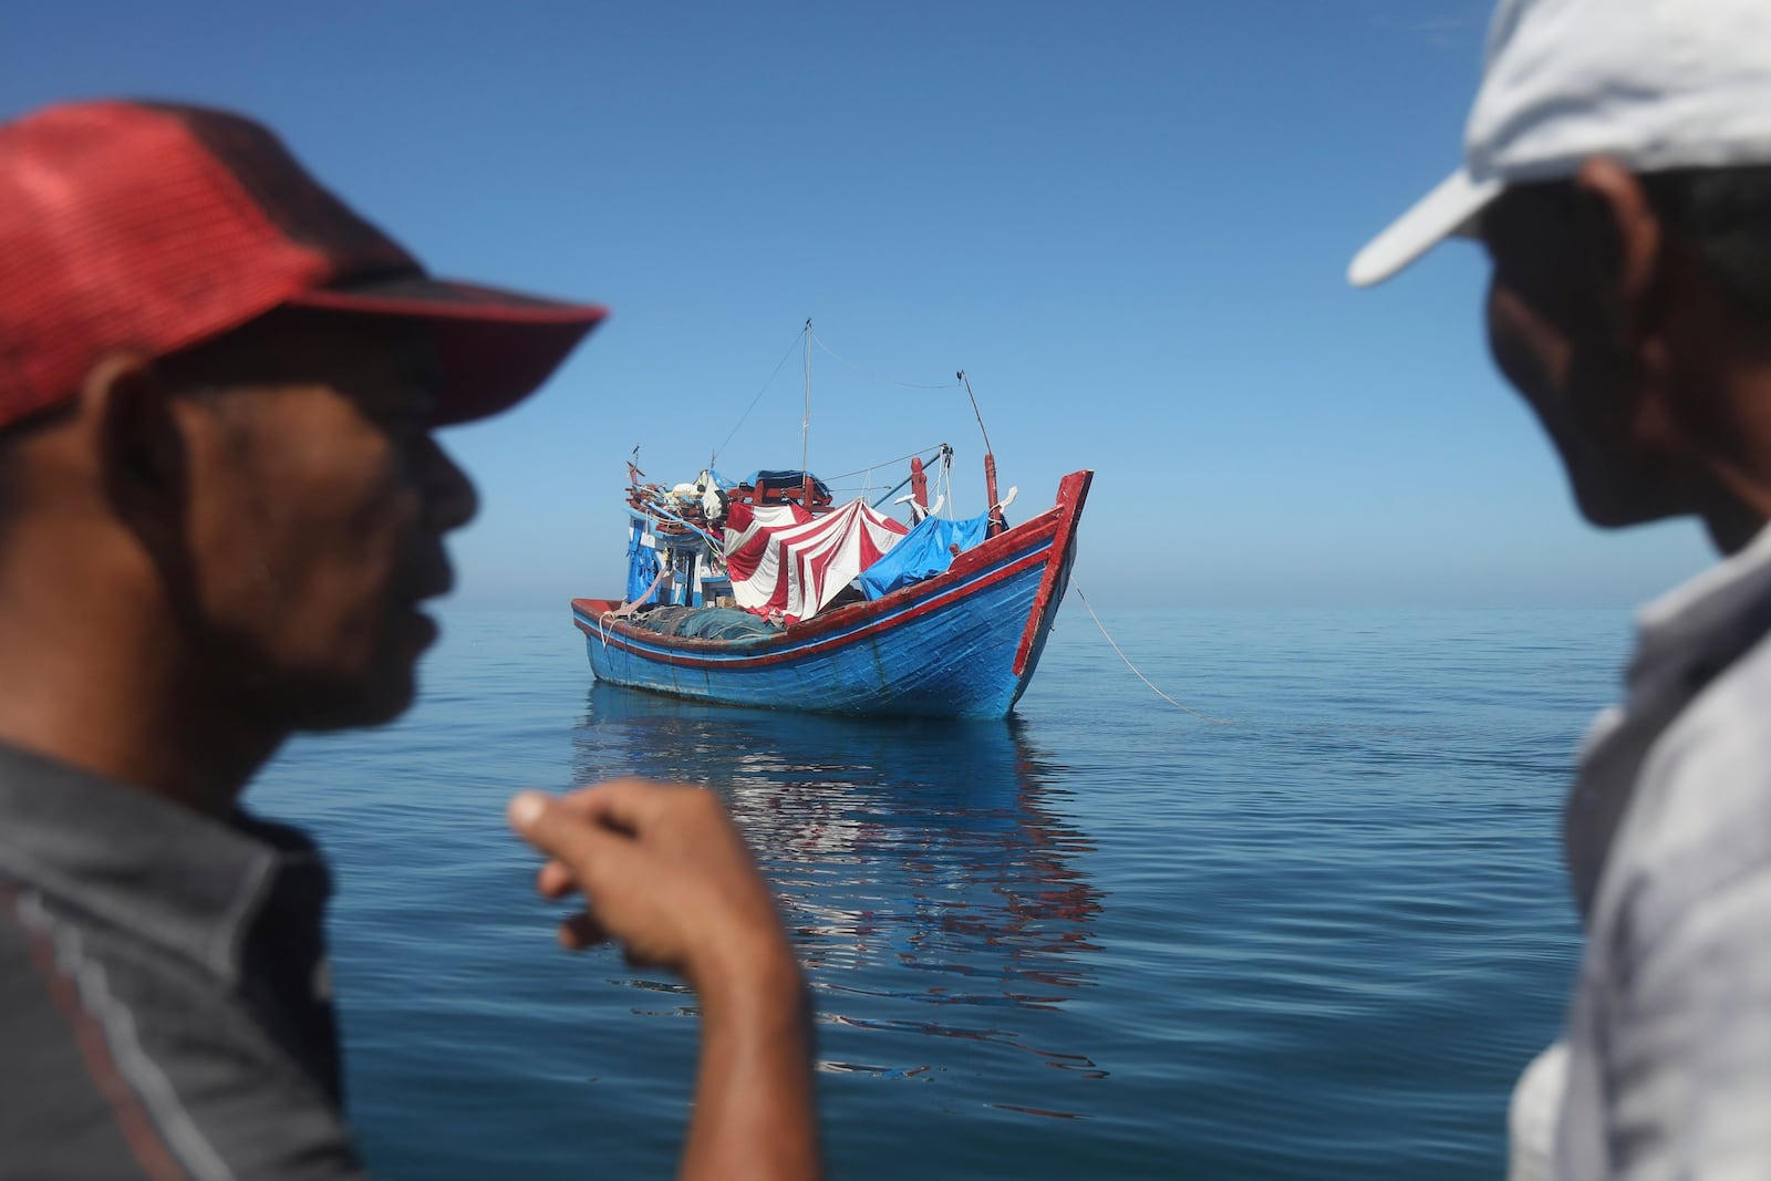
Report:
[{"label": "calm blue sea around the boat, between the two men", "polygon": [[1002,724],[595,685],[565,606],[445,620],[393,728],[255,806],[338,871],[349,1107],[388,1177],[666,1177],[694,999],[567,956],[519,786],[708,781],[818,1002],[839,1177],[1496,1177],[1578,953],[1557,857],[1626,613],[1102,613]]}]

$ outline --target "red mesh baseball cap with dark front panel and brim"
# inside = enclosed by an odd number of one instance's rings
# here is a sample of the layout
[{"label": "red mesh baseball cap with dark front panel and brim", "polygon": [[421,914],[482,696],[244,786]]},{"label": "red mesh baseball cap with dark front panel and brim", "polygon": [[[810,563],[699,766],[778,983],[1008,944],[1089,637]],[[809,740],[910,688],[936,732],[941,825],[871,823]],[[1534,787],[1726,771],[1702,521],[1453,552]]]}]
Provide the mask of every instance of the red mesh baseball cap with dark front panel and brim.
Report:
[{"label": "red mesh baseball cap with dark front panel and brim", "polygon": [[430,278],[239,115],[76,103],[0,126],[0,427],[71,400],[108,351],[165,356],[278,306],[429,324],[437,425],[522,400],[606,315]]}]

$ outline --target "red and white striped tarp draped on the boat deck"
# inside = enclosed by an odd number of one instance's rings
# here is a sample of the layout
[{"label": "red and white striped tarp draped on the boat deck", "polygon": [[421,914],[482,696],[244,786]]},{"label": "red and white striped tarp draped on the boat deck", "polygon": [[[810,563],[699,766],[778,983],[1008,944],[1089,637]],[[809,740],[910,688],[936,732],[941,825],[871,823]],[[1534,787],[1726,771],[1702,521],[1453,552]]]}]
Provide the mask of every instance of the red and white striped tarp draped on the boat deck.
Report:
[{"label": "red and white striped tarp draped on the boat deck", "polygon": [[788,623],[815,616],[905,533],[862,499],[816,519],[799,505],[735,503],[726,515],[731,597]]}]

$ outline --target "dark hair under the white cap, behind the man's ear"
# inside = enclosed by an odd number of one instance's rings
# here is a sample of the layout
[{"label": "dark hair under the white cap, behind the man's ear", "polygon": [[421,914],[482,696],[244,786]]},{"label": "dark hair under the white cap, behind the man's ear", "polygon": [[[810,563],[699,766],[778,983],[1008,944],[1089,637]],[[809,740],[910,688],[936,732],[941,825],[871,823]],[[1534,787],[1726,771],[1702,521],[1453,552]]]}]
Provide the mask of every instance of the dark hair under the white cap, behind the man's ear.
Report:
[{"label": "dark hair under the white cap, behind the man's ear", "polygon": [[1693,241],[1723,292],[1771,320],[1771,166],[1679,168],[1638,179],[1654,211]]}]

